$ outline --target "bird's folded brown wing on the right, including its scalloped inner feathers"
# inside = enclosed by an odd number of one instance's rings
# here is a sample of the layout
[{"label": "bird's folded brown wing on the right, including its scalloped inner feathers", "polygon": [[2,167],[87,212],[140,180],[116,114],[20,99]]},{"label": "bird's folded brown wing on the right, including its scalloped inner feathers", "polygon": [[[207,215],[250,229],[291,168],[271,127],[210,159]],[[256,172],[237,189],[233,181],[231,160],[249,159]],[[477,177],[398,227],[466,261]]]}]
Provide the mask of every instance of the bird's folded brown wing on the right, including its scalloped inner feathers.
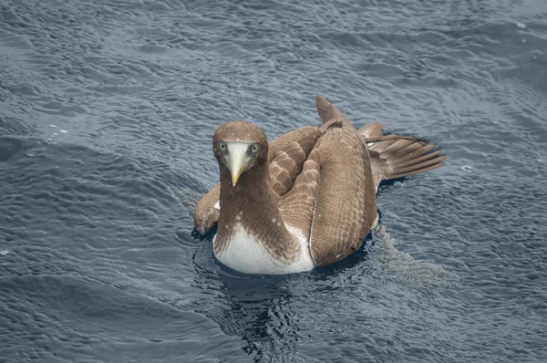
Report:
[{"label": "bird's folded brown wing on the right, including its scalloped inner feathers", "polygon": [[376,191],[362,136],[341,122],[327,122],[322,130],[325,133],[294,188],[280,201],[285,225],[307,238],[316,265],[332,264],[353,253],[377,217]]}]

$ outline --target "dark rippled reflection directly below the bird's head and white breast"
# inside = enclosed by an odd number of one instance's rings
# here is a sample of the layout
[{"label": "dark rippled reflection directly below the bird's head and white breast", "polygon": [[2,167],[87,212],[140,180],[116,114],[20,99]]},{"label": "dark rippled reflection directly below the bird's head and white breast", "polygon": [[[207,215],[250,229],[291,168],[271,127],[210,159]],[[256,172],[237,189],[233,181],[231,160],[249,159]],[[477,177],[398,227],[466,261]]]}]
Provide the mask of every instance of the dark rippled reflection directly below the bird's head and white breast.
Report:
[{"label": "dark rippled reflection directly below the bird's head and white breast", "polygon": [[294,276],[229,271],[214,260],[209,241],[201,244],[194,264],[194,286],[204,295],[193,303],[196,312],[211,318],[224,334],[241,337],[243,351],[254,361],[298,360],[299,327],[290,287]]}]

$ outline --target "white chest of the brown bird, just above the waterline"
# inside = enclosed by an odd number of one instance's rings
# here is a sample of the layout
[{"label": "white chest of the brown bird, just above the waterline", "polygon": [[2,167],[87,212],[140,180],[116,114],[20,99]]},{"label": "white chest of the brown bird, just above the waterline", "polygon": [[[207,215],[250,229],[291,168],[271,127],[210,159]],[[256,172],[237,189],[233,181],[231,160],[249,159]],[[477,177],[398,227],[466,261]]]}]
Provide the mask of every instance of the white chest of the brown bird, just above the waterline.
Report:
[{"label": "white chest of the brown bird, just above the waterline", "polygon": [[279,275],[314,268],[309,252],[298,248],[294,250],[294,258],[287,260],[267,247],[270,241],[249,233],[241,224],[236,224],[230,233],[215,235],[212,243],[214,255],[222,264],[244,274]]}]

